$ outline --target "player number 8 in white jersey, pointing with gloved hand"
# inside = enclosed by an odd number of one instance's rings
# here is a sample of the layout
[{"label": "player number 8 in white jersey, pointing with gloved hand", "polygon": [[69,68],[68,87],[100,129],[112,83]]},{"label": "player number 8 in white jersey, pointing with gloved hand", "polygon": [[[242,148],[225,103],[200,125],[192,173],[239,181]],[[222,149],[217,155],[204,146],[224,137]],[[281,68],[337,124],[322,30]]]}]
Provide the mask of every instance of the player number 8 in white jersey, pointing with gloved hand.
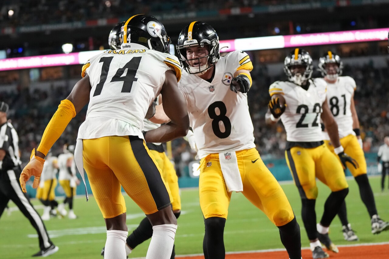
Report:
[{"label": "player number 8 in white jersey, pointing with gloved hand", "polygon": [[[300,259],[300,227],[284,191],[255,149],[247,105],[253,68],[249,55],[233,51],[221,57],[216,31],[201,21],[182,30],[177,51],[186,71],[179,89],[187,103],[201,159],[205,258],[225,258],[224,226],[231,194],[237,191],[279,228],[289,257]],[[154,119],[159,119],[159,114]]]}]

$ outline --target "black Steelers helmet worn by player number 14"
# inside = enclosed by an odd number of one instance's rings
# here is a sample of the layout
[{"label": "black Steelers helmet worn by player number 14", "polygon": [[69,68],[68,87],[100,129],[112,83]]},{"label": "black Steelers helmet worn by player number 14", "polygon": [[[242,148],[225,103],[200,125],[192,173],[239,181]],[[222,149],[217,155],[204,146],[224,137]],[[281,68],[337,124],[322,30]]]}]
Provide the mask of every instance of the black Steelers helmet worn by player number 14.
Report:
[{"label": "black Steelers helmet worn by player number 14", "polygon": [[121,48],[146,47],[159,52],[169,53],[170,38],[165,26],[154,16],[137,14],[121,27]]}]

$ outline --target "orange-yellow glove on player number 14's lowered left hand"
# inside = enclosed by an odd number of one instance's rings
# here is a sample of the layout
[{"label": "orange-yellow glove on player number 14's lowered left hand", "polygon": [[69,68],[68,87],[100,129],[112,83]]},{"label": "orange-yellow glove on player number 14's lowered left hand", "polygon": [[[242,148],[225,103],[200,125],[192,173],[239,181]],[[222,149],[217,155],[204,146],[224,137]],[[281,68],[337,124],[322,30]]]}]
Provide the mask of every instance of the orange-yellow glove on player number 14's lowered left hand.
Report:
[{"label": "orange-yellow glove on player number 14's lowered left hand", "polygon": [[32,184],[33,188],[37,188],[39,185],[39,178],[42,174],[43,164],[45,163],[45,159],[35,156],[35,149],[31,152],[30,162],[23,169],[20,174],[19,182],[22,187],[23,193],[27,193],[26,190],[26,182],[30,179],[30,177],[34,176],[34,182]]}]

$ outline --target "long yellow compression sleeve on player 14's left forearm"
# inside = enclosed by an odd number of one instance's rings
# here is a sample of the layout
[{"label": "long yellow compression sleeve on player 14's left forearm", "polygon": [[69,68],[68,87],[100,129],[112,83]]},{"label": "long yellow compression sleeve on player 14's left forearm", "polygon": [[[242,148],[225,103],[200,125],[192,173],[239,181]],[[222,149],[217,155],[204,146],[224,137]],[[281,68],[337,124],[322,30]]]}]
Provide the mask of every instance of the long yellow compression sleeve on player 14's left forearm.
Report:
[{"label": "long yellow compression sleeve on player 14's left forearm", "polygon": [[46,126],[37,151],[42,152],[46,156],[74,116],[75,108],[73,103],[69,100],[61,101],[57,111]]}]

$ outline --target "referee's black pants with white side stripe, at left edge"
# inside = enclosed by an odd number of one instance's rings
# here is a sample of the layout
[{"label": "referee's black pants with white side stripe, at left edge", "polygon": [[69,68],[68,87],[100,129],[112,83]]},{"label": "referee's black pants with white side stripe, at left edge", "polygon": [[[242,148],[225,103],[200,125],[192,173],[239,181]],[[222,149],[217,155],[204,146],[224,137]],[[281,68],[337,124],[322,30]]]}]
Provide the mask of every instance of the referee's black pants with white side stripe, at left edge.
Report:
[{"label": "referee's black pants with white side stripe, at left edge", "polygon": [[13,201],[37,231],[39,247],[41,250],[44,250],[53,243],[47,234],[46,227],[38,212],[34,209],[33,205],[30,203],[30,199],[23,193],[20,187],[20,173],[21,169],[18,167],[13,170],[0,170],[0,217],[4,212],[8,201]]}]

